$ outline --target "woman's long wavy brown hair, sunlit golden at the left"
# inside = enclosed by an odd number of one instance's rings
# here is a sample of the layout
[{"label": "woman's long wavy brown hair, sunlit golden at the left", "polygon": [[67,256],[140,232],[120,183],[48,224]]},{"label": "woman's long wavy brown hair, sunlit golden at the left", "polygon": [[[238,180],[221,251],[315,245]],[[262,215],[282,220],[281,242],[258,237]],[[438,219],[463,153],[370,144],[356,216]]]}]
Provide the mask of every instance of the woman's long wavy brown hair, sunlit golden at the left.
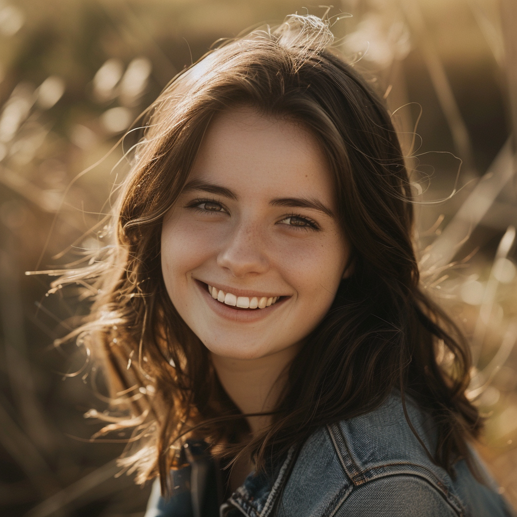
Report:
[{"label": "woman's long wavy brown hair, sunlit golden at the left", "polygon": [[[104,364],[113,404],[125,408],[103,433],[134,428],[122,461],[139,469],[138,481],[159,473],[166,491],[188,433],[232,444],[248,431],[207,349],[175,310],[160,266],[162,218],[211,118],[243,103],[292,117],[321,144],[353,250],[353,274],[291,364],[270,427],[246,444],[257,469],[316,428],[374,409],[393,390],[434,417],[433,461],[452,472],[455,460],[469,459],[466,440],[481,421],[465,397],[468,347],[420,285],[412,193],[389,114],[331,42],[327,22],[291,16],[273,31],[221,44],[174,78],[145,114],[111,245],[56,282],[88,284],[92,310],[72,335]],[[448,351],[447,364],[437,362],[438,346]]]}]

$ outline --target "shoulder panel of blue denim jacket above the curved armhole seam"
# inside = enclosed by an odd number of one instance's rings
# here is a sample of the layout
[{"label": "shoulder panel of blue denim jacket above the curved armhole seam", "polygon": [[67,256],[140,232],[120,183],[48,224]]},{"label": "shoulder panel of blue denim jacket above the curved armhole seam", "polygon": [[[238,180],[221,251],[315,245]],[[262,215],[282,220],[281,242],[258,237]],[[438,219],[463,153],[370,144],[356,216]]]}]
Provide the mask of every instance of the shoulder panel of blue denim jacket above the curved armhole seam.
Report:
[{"label": "shoulder panel of blue denim jacket above the curved armhole seam", "polygon": [[[434,450],[432,420],[416,404],[407,402],[406,410],[425,445]],[[358,487],[385,477],[407,483],[417,477],[437,500],[445,498],[453,511],[462,514],[463,505],[447,483],[447,473],[428,458],[397,394],[370,413],[314,432],[299,453],[282,499],[289,508],[296,506],[299,515],[329,515]]]}]

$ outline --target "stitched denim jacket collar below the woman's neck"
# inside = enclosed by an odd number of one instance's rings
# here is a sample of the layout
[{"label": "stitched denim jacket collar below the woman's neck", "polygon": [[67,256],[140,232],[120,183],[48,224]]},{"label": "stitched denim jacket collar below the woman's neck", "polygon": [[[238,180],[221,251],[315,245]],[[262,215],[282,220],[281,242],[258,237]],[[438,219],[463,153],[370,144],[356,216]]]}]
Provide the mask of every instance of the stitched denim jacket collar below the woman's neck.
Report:
[{"label": "stitched denim jacket collar below the woman's neck", "polygon": [[220,516],[233,517],[239,514],[236,510],[240,510],[240,513],[247,517],[268,517],[290,472],[294,452],[295,448],[291,447],[282,466],[277,470],[276,477],[267,474],[256,476],[252,472],[244,484],[221,506]]}]

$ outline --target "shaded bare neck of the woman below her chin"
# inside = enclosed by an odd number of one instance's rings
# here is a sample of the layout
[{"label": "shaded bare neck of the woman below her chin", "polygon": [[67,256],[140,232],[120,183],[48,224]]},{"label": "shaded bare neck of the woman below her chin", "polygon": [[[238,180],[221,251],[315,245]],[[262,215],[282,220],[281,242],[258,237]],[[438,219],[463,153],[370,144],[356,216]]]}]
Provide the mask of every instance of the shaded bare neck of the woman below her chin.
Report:
[{"label": "shaded bare neck of the woman below her chin", "polygon": [[[242,413],[272,411],[285,386],[287,370],[298,352],[293,345],[258,359],[234,359],[211,354],[219,380]],[[246,417],[254,436],[268,427],[269,415]]]}]

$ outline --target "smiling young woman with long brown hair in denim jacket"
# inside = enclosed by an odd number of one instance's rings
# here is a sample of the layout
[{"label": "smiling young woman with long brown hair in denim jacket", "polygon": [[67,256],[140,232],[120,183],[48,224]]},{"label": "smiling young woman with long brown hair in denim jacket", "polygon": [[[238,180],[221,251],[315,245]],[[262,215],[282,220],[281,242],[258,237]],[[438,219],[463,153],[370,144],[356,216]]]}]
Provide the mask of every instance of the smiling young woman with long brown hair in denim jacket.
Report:
[{"label": "smiling young woman with long brown hair in denim jacket", "polygon": [[397,135],[331,42],[291,16],[179,74],[112,246],[59,280],[95,287],[76,335],[120,407],[104,432],[134,428],[121,463],[159,477],[147,517],[510,512],[469,445],[468,348],[419,285]]}]

